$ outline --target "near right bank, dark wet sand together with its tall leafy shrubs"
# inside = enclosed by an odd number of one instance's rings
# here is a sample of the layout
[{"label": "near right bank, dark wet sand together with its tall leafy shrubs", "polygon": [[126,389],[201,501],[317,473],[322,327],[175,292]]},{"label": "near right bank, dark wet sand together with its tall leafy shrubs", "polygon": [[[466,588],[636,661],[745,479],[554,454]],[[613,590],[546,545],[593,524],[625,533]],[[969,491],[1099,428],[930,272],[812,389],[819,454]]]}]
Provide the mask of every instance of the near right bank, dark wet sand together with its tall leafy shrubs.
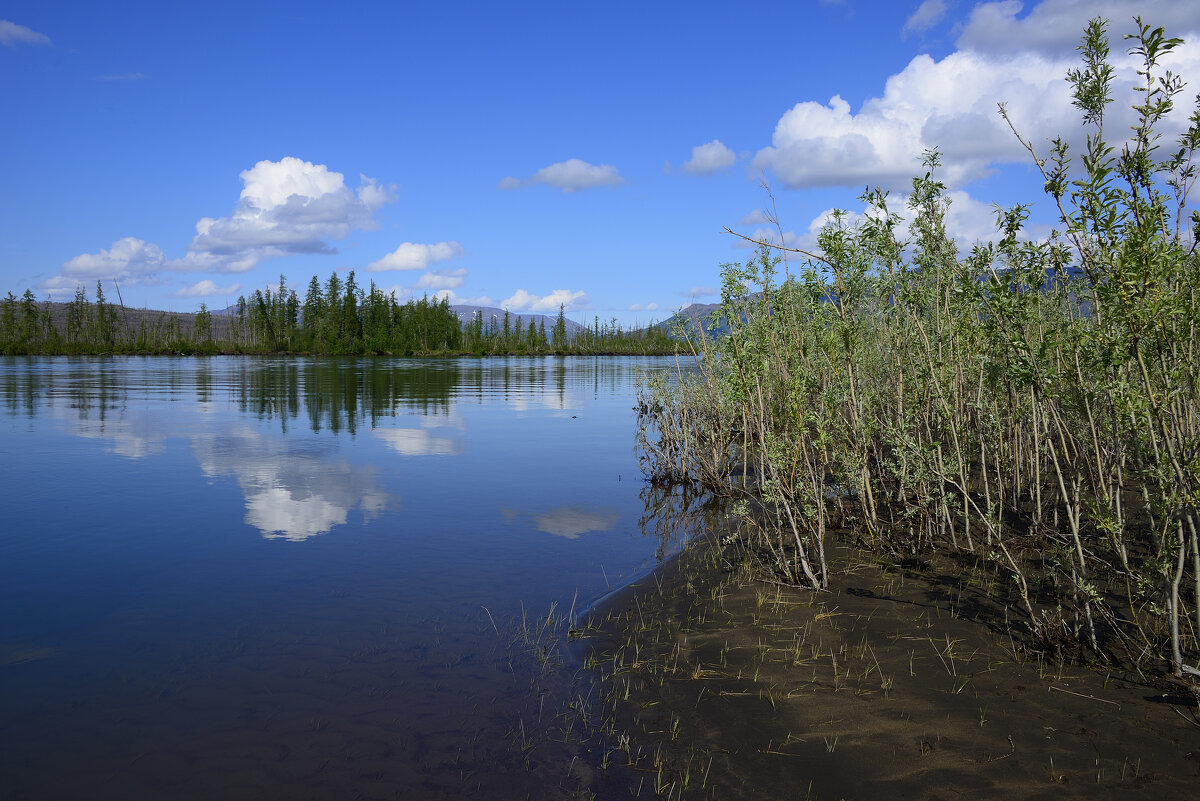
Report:
[{"label": "near right bank, dark wet sand together with its tall leafy shrubs", "polygon": [[907,239],[874,189],[816,252],[758,242],[724,266],[725,333],[697,332],[697,369],[638,397],[648,490],[668,499],[647,516],[710,536],[571,632],[594,638],[593,700],[571,706],[592,788],[1192,793],[1200,95],[1168,145],[1184,84],[1160,62],[1181,42],[1135,24],[1116,141],[1102,19],[1067,76],[1078,163],[1001,106],[1058,210],[1048,239],[1022,239],[1018,205],[961,254],[930,152]]}]

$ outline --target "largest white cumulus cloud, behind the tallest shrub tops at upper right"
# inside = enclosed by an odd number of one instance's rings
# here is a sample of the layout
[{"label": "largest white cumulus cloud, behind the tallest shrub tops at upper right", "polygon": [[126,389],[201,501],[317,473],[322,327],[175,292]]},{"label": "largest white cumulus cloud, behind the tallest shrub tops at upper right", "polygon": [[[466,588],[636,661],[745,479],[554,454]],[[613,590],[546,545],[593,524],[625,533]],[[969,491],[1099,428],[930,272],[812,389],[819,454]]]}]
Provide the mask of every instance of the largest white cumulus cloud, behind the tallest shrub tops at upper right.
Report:
[{"label": "largest white cumulus cloud, behind the tallest shrub tops at upper right", "polygon": [[[1162,66],[1183,76],[1200,71],[1200,44],[1193,41],[1200,31],[1200,4],[1156,4],[1154,13],[1141,5],[1046,0],[1019,17],[1022,6],[1015,0],[980,4],[964,26],[958,50],[941,60],[918,55],[887,79],[882,95],[857,110],[836,95],[828,103],[797,103],[780,118],[770,146],[757,152],[754,164],[790,188],[870,185],[905,191],[911,177],[923,173],[923,152],[937,149],[938,177],[961,187],[1001,164],[1030,163],[997,113],[1000,103],[1027,140],[1042,145],[1064,135],[1078,150],[1080,115],[1072,106],[1066,73],[1079,66],[1075,46],[1094,14],[1114,19],[1110,40],[1117,76],[1106,131],[1128,131],[1136,61],[1124,53],[1128,46],[1121,34],[1132,26],[1124,20],[1141,13],[1154,25],[1165,24],[1171,35],[1188,42]],[[929,6],[924,18],[931,19],[935,11]],[[1164,126],[1164,137],[1174,138],[1181,127],[1183,106],[1189,103],[1181,103]]]}]

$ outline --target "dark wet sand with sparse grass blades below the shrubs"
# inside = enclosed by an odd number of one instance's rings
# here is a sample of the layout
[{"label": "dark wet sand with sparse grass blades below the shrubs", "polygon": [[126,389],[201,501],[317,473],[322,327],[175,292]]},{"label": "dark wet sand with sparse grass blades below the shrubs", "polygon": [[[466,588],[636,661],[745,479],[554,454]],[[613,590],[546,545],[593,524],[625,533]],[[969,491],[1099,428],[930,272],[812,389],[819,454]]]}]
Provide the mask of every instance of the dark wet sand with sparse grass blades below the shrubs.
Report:
[{"label": "dark wet sand with sparse grass blades below the shrubs", "polygon": [[600,797],[1196,797],[1195,697],[1031,654],[994,578],[844,550],[817,594],[706,548],[599,616]]}]

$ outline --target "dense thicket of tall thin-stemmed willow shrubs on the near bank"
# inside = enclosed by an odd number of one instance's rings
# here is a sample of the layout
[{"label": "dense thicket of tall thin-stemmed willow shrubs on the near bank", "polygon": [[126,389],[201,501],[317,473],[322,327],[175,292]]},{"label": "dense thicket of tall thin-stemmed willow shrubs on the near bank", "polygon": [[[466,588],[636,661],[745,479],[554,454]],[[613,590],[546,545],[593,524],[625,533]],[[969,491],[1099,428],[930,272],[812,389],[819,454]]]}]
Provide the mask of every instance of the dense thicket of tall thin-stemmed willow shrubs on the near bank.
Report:
[{"label": "dense thicket of tall thin-stemmed willow shrubs on the near bank", "polygon": [[1021,139],[1060,211],[1046,240],[1022,239],[1015,206],[960,252],[931,152],[904,237],[872,191],[816,252],[764,245],[725,265],[726,332],[694,333],[695,374],[643,386],[652,481],[731,498],[778,580],[826,588],[834,535],[966,555],[948,561],[991,565],[997,601],[1043,643],[1195,673],[1200,98],[1165,146],[1183,83],[1160,61],[1180,42],[1135,22],[1128,140],[1105,137],[1102,20],[1067,76],[1079,163],[1063,140],[1043,157]]}]

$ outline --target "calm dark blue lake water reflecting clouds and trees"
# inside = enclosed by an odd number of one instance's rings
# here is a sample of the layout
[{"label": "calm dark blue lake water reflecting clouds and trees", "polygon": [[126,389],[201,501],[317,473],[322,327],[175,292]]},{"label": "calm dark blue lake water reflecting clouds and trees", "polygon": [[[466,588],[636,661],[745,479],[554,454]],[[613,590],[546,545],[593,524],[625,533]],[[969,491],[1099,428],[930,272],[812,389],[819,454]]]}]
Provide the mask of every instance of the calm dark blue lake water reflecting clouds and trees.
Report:
[{"label": "calm dark blue lake water reflecting clouds and trees", "polygon": [[673,367],[0,359],[0,797],[538,797],[506,632],[673,549]]}]

